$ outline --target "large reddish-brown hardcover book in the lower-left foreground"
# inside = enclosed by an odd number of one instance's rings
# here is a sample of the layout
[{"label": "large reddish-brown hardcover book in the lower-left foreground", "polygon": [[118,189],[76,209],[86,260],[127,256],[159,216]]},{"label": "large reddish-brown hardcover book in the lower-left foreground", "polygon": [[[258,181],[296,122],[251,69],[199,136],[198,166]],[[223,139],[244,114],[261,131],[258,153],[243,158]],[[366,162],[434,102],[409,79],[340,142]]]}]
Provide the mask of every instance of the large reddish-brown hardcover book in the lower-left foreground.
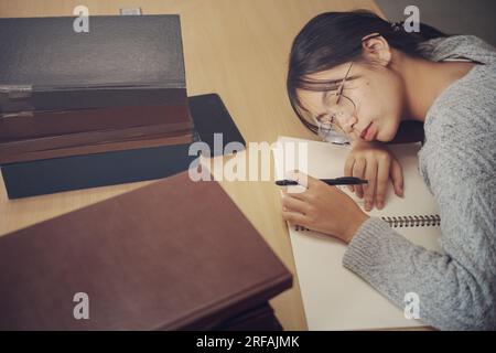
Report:
[{"label": "large reddish-brown hardcover book in the lower-left foreground", "polygon": [[0,237],[0,330],[216,328],[292,282],[219,184],[187,172]]}]

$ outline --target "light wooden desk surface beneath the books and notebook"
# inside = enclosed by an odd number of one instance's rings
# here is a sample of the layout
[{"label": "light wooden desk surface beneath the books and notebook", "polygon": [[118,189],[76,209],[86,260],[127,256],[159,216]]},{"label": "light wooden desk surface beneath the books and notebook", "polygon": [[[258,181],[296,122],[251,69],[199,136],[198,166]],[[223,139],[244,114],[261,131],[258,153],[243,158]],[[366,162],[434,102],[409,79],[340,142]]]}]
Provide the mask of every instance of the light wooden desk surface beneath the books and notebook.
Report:
[{"label": "light wooden desk surface beneath the books and notebook", "polygon": [[[84,3],[89,14],[118,14],[140,4],[143,14],[180,13],[187,90],[218,93],[247,141],[276,141],[279,135],[312,139],[285,95],[289,50],[300,29],[326,11],[371,9],[371,0],[0,0],[0,17],[73,15]],[[134,190],[149,182],[9,201],[0,185],[0,235]],[[291,245],[271,182],[222,182],[268,244],[295,274]],[[306,329],[295,278],[293,289],[272,300],[287,330]]]}]

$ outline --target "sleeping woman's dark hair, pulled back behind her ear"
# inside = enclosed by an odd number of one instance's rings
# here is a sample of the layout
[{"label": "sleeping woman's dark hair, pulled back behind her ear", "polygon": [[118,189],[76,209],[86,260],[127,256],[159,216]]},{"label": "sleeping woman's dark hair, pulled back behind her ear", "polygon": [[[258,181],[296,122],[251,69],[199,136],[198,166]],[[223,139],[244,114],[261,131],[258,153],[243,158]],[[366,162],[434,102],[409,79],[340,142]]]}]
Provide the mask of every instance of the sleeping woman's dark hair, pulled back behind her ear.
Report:
[{"label": "sleeping woman's dark hair, pulled back behind her ear", "polygon": [[302,110],[305,109],[298,98],[296,89],[335,89],[334,83],[326,85],[325,82],[310,81],[308,76],[363,58],[362,40],[371,33],[380,34],[391,47],[417,57],[422,56],[420,43],[446,36],[423,23],[420,24],[420,33],[409,33],[401,24],[392,24],[367,10],[326,12],[312,19],[294,39],[287,82],[291,106],[311,131],[316,133],[317,127],[303,117]]}]

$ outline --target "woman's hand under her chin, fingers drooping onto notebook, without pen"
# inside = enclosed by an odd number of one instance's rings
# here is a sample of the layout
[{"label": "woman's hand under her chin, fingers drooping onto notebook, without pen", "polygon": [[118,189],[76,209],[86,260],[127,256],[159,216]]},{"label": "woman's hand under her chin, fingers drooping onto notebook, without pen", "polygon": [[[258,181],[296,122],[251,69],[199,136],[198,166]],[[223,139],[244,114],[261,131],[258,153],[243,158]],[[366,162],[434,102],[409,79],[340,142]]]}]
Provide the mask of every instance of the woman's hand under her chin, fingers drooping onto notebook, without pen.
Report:
[{"label": "woman's hand under her chin, fingers drooping onto notebook, without pen", "polygon": [[401,165],[380,142],[355,142],[346,159],[344,174],[368,180],[365,186],[349,186],[358,197],[365,196],[365,211],[370,211],[374,205],[379,210],[384,207],[389,179],[395,193],[400,197],[403,196]]}]

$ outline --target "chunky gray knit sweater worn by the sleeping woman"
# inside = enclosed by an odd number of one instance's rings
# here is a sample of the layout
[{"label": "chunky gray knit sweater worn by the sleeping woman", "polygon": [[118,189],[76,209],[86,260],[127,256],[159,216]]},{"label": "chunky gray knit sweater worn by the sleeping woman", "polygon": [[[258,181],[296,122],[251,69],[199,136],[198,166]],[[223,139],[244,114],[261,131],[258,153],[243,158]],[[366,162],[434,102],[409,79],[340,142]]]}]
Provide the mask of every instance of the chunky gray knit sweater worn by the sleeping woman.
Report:
[{"label": "chunky gray knit sweater worn by the sleeping woman", "polygon": [[484,64],[448,87],[425,117],[419,165],[439,204],[444,255],[373,217],[343,265],[400,308],[405,295],[416,292],[421,320],[438,329],[496,330],[496,51],[461,35],[431,40],[422,50],[432,61]]}]

